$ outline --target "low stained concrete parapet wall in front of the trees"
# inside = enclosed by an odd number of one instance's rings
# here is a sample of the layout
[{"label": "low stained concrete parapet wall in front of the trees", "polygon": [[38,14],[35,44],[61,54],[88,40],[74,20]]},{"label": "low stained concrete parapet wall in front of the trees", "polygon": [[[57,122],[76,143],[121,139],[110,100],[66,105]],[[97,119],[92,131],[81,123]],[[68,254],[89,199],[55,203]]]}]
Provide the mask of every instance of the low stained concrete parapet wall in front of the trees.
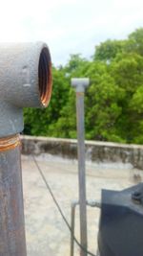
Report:
[{"label": "low stained concrete parapet wall in front of the trees", "polygon": [[[77,141],[71,139],[22,136],[22,153],[49,153],[76,159]],[[143,169],[143,146],[86,141],[86,159],[98,163],[130,163],[134,168]]]}]

